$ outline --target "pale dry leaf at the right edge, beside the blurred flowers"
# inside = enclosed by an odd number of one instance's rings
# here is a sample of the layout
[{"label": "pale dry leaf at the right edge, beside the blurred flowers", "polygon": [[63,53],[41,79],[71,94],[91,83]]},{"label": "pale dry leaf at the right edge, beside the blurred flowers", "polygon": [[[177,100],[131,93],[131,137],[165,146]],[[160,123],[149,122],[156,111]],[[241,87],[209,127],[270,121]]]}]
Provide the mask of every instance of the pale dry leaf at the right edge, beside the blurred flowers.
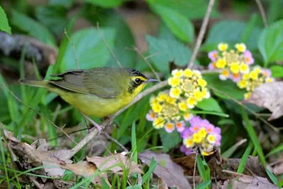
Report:
[{"label": "pale dry leaf at the right edge, beside the blurred flowers", "polygon": [[269,109],[272,115],[268,120],[279,118],[283,115],[283,82],[264,83],[256,88],[250,99],[246,102]]}]

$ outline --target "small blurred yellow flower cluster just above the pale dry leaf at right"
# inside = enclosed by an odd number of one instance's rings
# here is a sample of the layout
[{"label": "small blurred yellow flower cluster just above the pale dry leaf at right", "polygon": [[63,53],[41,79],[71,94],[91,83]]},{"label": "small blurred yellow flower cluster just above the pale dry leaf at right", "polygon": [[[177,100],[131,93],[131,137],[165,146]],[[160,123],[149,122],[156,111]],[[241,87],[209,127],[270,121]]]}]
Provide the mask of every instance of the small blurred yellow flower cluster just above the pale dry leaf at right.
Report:
[{"label": "small blurred yellow flower cluster just above the pale dry leaf at right", "polygon": [[241,89],[246,89],[245,99],[249,99],[250,94],[252,94],[256,87],[262,85],[262,83],[270,83],[272,81],[273,78],[271,78],[271,71],[269,69],[256,66],[249,73],[243,74],[237,85]]}]

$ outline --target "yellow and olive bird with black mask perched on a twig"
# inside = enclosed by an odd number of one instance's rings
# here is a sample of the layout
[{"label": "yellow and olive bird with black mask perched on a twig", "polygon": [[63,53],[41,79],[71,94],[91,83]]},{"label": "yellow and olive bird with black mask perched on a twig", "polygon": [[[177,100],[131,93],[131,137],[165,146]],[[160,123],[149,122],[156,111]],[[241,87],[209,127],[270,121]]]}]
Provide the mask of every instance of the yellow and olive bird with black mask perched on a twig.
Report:
[{"label": "yellow and olive bird with black mask perched on a twig", "polygon": [[51,75],[50,80],[20,79],[24,85],[45,87],[75,106],[99,130],[102,128],[89,116],[105,118],[127,106],[148,83],[132,68],[89,68]]}]

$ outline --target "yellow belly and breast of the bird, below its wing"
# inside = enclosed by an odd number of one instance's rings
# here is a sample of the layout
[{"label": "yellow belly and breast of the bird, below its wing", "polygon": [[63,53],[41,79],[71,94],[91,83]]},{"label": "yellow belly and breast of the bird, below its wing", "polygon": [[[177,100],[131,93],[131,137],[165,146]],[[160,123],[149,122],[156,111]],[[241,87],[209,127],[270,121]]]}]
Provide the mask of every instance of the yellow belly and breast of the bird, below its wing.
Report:
[{"label": "yellow belly and breast of the bird, below its wing", "polygon": [[114,99],[104,99],[93,94],[67,92],[66,90],[52,91],[59,94],[66,102],[79,109],[81,113],[98,118],[114,114],[129,104],[134,98],[134,96],[129,93],[121,94]]}]

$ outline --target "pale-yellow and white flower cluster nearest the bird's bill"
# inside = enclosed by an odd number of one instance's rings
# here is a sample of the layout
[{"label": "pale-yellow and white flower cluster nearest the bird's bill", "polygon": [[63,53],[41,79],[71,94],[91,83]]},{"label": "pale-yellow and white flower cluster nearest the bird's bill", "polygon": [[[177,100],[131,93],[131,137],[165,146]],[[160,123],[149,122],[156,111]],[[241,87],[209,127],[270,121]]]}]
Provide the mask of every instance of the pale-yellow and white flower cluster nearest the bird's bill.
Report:
[{"label": "pale-yellow and white flower cluster nearest the bird's bill", "polygon": [[192,109],[197,102],[210,97],[207,82],[202,78],[200,71],[190,69],[173,70],[172,77],[168,78],[171,86],[170,96],[175,99],[185,99],[187,107]]}]

